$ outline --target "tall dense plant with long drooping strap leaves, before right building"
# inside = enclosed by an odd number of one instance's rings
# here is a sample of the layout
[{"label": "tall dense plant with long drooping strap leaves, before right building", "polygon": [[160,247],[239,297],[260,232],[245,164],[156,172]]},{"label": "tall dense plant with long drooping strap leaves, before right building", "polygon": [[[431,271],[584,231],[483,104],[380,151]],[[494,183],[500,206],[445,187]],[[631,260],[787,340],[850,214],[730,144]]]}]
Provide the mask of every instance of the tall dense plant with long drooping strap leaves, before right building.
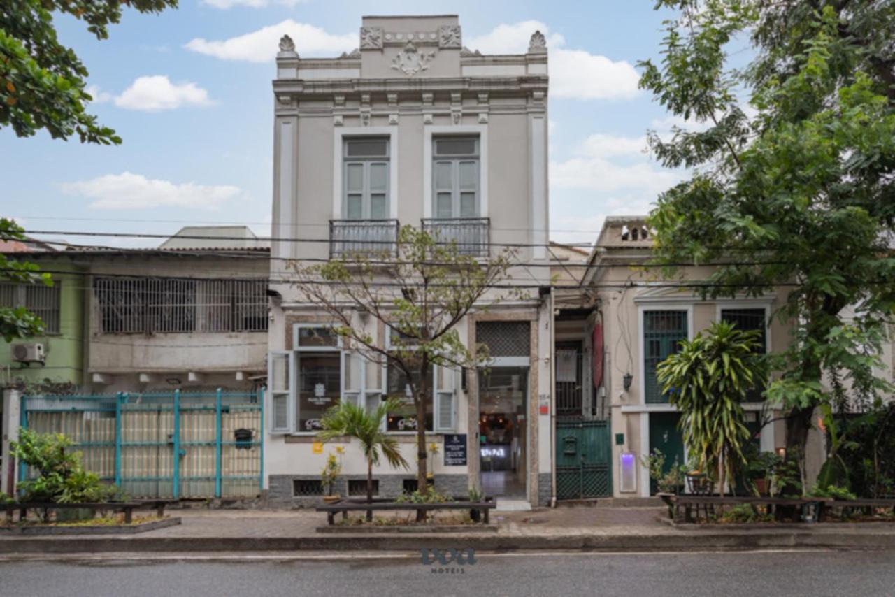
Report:
[{"label": "tall dense plant with long drooping strap leaves, before right building", "polygon": [[678,426],[690,458],[703,472],[718,471],[721,491],[745,462],[749,431],[741,403],[762,379],[755,353],[760,337],[760,331],[717,321],[705,336],[682,341],[656,369],[669,404],[681,412]]}]

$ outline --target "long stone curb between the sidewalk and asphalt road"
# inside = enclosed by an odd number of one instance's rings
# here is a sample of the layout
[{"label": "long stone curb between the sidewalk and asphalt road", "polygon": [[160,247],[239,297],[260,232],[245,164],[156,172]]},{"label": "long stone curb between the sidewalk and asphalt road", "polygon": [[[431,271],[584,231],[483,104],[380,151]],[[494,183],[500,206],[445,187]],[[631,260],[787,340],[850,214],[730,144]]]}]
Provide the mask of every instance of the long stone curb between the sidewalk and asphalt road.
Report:
[{"label": "long stone curb between the sidewalk and asphalt road", "polygon": [[482,551],[592,550],[895,550],[895,533],[714,533],[680,535],[494,536],[330,535],[325,537],[55,537],[10,538],[0,553],[216,552],[216,551],[401,551],[444,545]]}]

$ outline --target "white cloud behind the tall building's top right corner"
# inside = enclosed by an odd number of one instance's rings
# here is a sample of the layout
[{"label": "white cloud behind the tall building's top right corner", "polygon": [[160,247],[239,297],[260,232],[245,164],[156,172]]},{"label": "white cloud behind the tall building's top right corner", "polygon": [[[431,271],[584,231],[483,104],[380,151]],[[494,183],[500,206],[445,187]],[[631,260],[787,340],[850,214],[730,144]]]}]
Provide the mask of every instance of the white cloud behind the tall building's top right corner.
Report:
[{"label": "white cloud behind the tall building's top right corner", "polygon": [[522,54],[535,30],[547,38],[550,53],[550,95],[554,98],[633,98],[640,74],[626,60],[613,61],[585,50],[569,49],[566,39],[541,21],[501,24],[466,44],[483,54]]}]

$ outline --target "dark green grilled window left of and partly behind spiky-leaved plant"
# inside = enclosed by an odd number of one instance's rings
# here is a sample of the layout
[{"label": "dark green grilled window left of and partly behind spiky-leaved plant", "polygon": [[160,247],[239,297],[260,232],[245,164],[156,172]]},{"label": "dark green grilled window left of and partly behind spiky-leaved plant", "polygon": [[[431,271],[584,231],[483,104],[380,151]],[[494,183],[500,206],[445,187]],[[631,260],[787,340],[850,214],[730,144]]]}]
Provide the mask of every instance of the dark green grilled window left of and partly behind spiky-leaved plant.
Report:
[{"label": "dark green grilled window left of and partly behind spiky-leaved plant", "polygon": [[644,311],[644,402],[660,405],[669,401],[656,376],[656,366],[677,353],[687,338],[686,311]]}]

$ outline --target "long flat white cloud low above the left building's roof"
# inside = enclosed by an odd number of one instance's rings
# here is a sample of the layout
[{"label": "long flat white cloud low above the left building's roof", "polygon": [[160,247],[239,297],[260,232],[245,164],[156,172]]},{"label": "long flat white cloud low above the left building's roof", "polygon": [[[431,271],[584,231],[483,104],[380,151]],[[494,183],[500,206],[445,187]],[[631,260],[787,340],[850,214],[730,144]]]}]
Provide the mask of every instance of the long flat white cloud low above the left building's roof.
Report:
[{"label": "long flat white cloud low above the left building's roof", "polygon": [[130,172],[64,183],[62,190],[92,199],[92,209],[217,209],[240,194],[239,187],[231,185],[171,183]]}]

